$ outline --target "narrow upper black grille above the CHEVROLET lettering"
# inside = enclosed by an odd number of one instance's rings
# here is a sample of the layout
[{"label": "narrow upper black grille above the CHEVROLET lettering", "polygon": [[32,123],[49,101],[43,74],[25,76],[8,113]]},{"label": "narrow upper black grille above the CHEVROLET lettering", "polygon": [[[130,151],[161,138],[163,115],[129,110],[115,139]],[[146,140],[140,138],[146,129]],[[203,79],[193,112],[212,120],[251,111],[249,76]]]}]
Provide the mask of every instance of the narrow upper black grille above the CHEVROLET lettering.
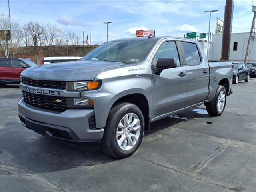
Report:
[{"label": "narrow upper black grille above the CHEVROLET lettering", "polygon": [[21,82],[36,87],[66,89],[66,82],[64,81],[46,81],[21,77]]}]

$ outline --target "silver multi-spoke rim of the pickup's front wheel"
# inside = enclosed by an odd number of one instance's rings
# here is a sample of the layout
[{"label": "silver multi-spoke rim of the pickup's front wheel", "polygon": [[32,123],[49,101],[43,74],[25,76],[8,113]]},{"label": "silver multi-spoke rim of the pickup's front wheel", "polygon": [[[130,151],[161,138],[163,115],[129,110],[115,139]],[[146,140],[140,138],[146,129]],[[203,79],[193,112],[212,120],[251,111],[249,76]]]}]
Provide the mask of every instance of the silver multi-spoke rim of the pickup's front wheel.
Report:
[{"label": "silver multi-spoke rim of the pickup's front wheel", "polygon": [[128,113],[120,120],[116,130],[116,140],[122,150],[130,150],[140,137],[140,119],[134,113]]}]

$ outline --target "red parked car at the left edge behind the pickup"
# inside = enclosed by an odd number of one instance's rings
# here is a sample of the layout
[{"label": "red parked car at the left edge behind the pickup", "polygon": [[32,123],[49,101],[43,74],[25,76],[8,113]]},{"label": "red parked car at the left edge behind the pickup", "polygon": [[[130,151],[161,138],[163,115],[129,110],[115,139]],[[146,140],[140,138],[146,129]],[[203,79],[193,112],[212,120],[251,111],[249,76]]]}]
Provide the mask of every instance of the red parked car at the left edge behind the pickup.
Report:
[{"label": "red parked car at the left edge behind the pickup", "polygon": [[26,68],[38,66],[23,58],[0,58],[0,84],[20,83],[20,74]]}]

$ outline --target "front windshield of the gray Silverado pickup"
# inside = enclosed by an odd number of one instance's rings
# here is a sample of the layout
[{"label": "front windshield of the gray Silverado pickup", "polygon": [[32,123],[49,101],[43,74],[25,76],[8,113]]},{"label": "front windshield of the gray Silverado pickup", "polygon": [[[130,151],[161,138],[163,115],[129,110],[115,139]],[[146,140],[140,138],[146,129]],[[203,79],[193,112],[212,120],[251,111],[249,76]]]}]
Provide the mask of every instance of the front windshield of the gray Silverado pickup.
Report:
[{"label": "front windshield of the gray Silverado pickup", "polygon": [[106,42],[81,60],[136,63],[146,57],[155,42],[153,39]]}]

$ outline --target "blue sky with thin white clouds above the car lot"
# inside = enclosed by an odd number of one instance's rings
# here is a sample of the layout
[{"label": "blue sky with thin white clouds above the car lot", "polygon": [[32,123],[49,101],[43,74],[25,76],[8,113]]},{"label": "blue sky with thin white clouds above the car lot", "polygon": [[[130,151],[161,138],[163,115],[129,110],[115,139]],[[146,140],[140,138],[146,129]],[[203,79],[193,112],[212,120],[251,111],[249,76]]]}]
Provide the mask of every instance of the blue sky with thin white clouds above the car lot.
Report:
[{"label": "blue sky with thin white clouds above the car lot", "polygon": [[[252,4],[256,0],[235,0],[232,33],[250,32]],[[211,32],[215,33],[216,17],[224,19],[225,0],[186,1],[84,1],[84,0],[10,0],[13,20],[20,24],[33,21],[52,23],[64,31],[89,34],[91,21],[92,44],[106,41],[106,24],[109,40],[127,38],[136,29],[155,29],[156,36],[183,37],[186,32],[208,32],[209,13],[212,13]],[[0,13],[8,14],[8,1],[0,0]],[[89,39],[90,40],[90,39]]]}]

